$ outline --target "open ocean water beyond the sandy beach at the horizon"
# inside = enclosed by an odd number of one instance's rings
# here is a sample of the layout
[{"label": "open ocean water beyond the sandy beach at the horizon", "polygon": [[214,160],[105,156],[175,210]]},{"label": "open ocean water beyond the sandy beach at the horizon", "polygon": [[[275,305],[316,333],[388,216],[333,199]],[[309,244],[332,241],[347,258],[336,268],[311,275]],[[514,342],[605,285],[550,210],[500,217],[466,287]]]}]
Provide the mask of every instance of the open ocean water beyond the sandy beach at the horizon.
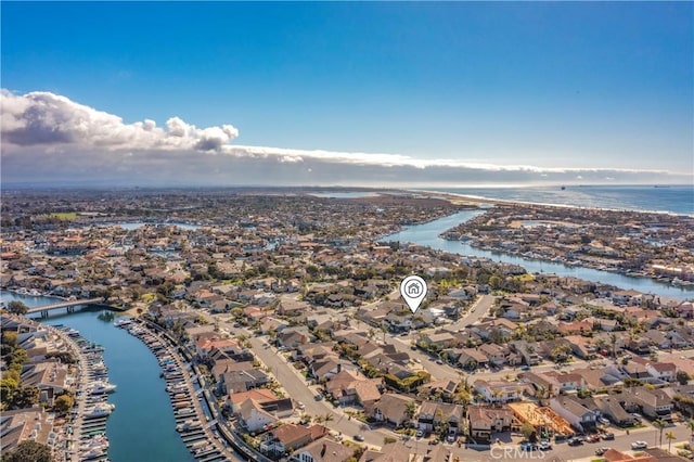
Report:
[{"label": "open ocean water beyond the sandy beach at the horizon", "polygon": [[[432,189],[435,190],[435,189]],[[500,201],[694,216],[694,185],[449,188],[436,191]]]}]

